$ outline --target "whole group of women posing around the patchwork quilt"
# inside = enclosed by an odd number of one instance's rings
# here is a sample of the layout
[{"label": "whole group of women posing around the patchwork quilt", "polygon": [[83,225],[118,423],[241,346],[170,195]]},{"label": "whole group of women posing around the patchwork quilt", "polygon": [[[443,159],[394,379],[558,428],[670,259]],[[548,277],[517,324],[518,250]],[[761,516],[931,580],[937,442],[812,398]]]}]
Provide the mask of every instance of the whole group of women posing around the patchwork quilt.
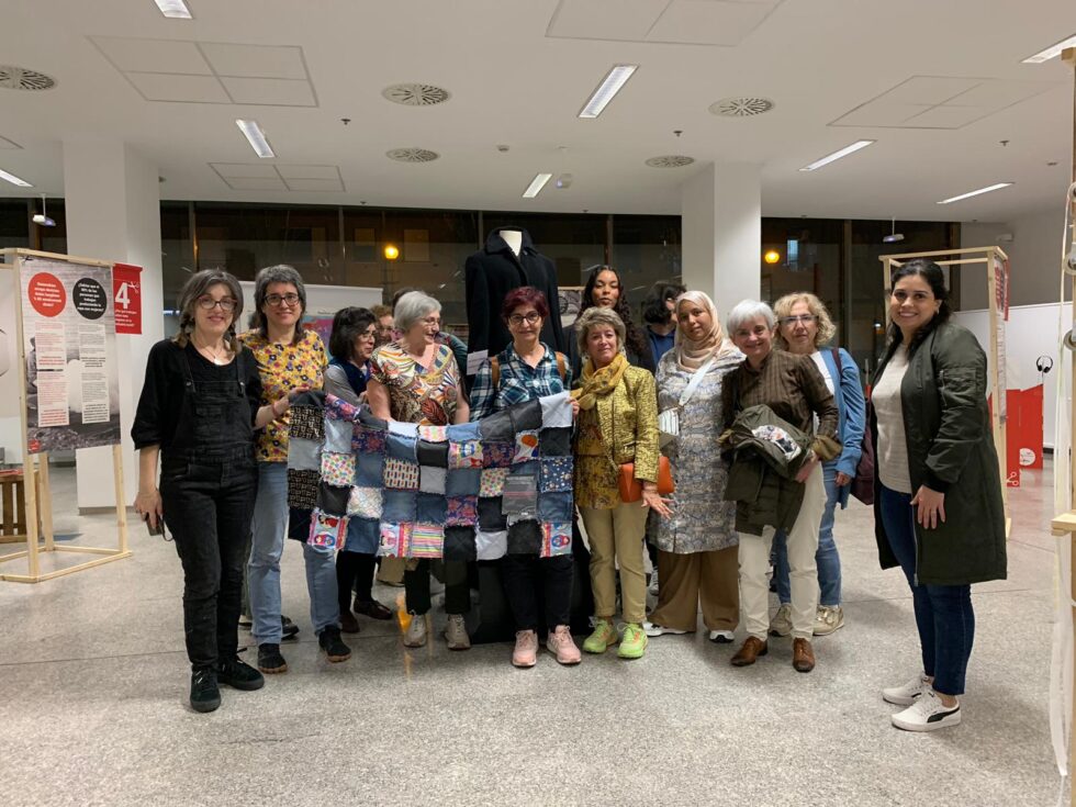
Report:
[{"label": "whole group of women posing around the patchwork quilt", "polygon": [[[893,278],[890,338],[872,379],[870,415],[855,362],[826,346],[834,327],[814,294],[782,298],[776,311],[740,302],[728,336],[706,294],[663,285],[657,295],[645,333],[628,315],[619,276],[594,272],[571,326],[572,354],[563,356],[539,336],[550,301],[529,287],[515,290],[502,307],[512,343],[483,362],[467,395],[440,304],[421,291],[396,301],[393,338],[378,347],[383,315],[338,312],[329,360],[317,335],[301,327],[305,291],[294,269],[259,272],[253,327],[242,336],[235,279],[192,276],[179,333],[150,354],[133,428],[136,507],[152,527],[164,519],[184,570],[192,706],[212,710],[220,684],[254,690],[261,673],[287,670],[279,562],[288,410],[298,392],[324,388],[380,418],[441,426],[570,390],[574,497],[594,602],[583,651],[617,646],[621,658],[638,659],[653,637],[695,632],[702,609],[717,643],[732,642],[742,619],[732,665],[755,663],[772,638],[791,635],[793,666],[810,672],[812,637],[844,624],[833,520],[862,470],[866,433],[877,447],[879,557],[908,579],[922,649],[922,670],[882,694],[906,707],[893,716],[900,728],[959,722],[974,632],[969,585],[1002,578],[1006,560],[986,359],[951,321],[941,269],[910,261]],[[671,493],[659,492],[665,466]],[[639,490],[627,495],[632,485]],[[659,581],[649,619],[648,534]],[[586,551],[578,536],[576,549]],[[329,661],[350,655],[341,632],[358,631],[356,614],[392,616],[371,593],[376,552],[358,533],[335,557],[303,542],[311,621]],[[258,670],[237,657],[244,560]],[[407,647],[427,641],[429,567],[406,563]],[[467,564],[441,567],[445,638],[466,650]],[[780,598],[772,618],[771,568]],[[517,630],[512,663],[537,663],[543,630],[556,660],[578,664],[571,557],[508,554],[501,570]]]}]

